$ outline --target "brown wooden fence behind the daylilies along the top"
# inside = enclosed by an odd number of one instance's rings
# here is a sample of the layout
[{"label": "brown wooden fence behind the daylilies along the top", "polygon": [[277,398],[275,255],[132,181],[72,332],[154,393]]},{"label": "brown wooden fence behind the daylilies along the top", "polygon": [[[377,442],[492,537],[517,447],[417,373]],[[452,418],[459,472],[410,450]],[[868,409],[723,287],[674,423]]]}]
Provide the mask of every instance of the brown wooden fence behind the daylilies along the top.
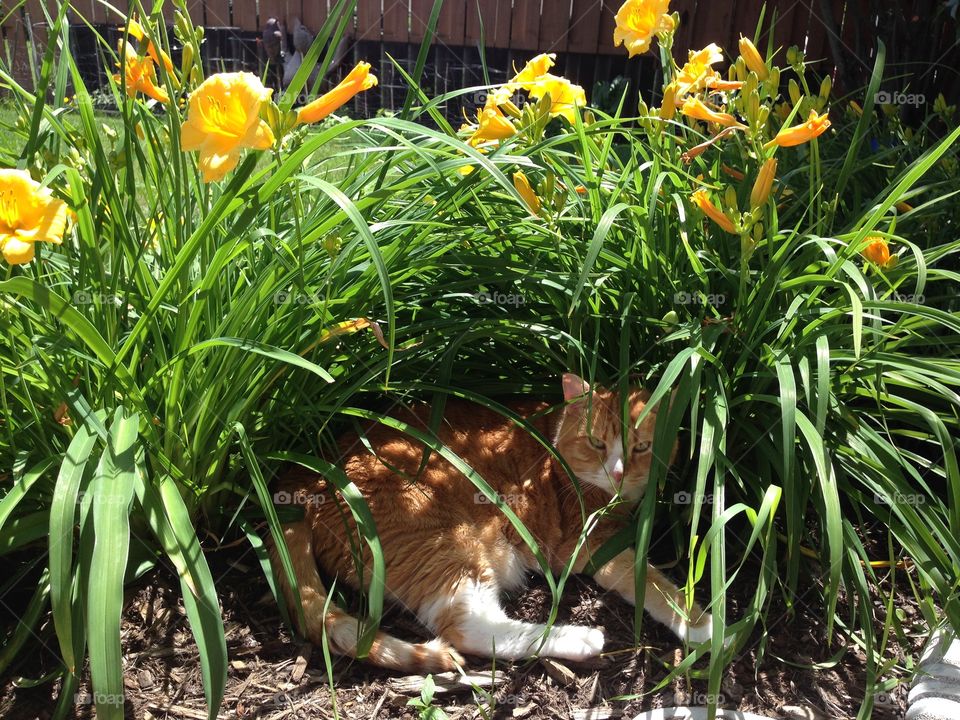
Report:
[{"label": "brown wooden fence behind the daylilies along the top", "polygon": [[[46,40],[43,4],[0,0],[6,57],[16,76],[28,83],[32,48],[42,49]],[[267,18],[287,19],[289,27],[290,20],[299,17],[315,32],[333,4],[335,0],[186,2],[193,21],[208,31],[205,60],[211,66],[254,70],[262,63],[258,28]],[[618,75],[655,94],[656,58],[646,55],[628,61],[624,49],[613,46],[614,15],[620,4],[621,0],[446,0],[428,66],[434,86],[428,89],[443,92],[482,83],[477,51],[482,34],[495,81],[536,52],[556,52],[559,71],[584,85],[588,94],[597,81]],[[46,5],[53,11],[58,3]],[[380,91],[368,102],[395,104],[402,81],[395,77],[387,53],[401,65],[409,64],[423,40],[432,6],[433,0],[357,0],[349,30],[352,57],[370,60],[383,75]],[[673,0],[670,8],[681,18],[674,56],[682,60],[688,49],[710,42],[735,54],[740,34],[754,34],[764,6],[761,46],[769,40],[781,48],[781,63],[782,49],[797,45],[808,59],[818,61],[822,74],[833,74],[840,88],[854,89],[866,84],[876,40],[883,38],[888,47],[887,76],[901,73],[891,80],[889,90],[929,95],[929,102],[937,92],[949,98],[960,95],[957,23],[943,0]],[[172,19],[172,3],[168,0],[164,7]],[[126,0],[109,4],[75,0],[71,21],[82,34],[82,17],[107,37],[110,33],[103,30],[121,23],[127,9]],[[77,52],[91,53],[93,62],[102,65],[96,59],[95,40],[81,37]],[[101,76],[105,72],[99,67]]]}]

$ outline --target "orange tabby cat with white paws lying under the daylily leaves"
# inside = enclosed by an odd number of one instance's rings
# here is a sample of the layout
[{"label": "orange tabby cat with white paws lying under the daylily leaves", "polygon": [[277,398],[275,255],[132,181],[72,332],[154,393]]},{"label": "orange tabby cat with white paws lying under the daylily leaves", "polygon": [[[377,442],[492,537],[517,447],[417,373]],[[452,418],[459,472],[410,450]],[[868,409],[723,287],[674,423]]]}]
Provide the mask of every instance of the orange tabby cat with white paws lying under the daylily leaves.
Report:
[{"label": "orange tabby cat with white paws lying under the daylily leaves", "polygon": [[[549,414],[545,411],[550,405],[542,402],[519,402],[511,408],[553,441],[581,483],[587,515],[618,493],[629,502],[639,500],[655,461],[651,445],[656,410],[630,431],[624,455],[618,396],[601,388],[591,390],[571,374],[563,376],[563,394],[567,404]],[[648,397],[645,391],[631,391],[631,418],[636,420]],[[429,411],[429,406],[420,405],[394,417],[426,429]],[[437,435],[511,507],[536,538],[551,570],[559,572],[583,530],[580,502],[561,465],[524,429],[470,403],[449,400]],[[431,642],[414,644],[378,633],[370,662],[436,672],[462,665],[459,653],[495,654],[508,660],[534,654],[582,660],[600,653],[604,638],[599,629],[555,625],[544,637],[546,626],[506,615],[500,592],[521,586],[527,571],[539,570],[539,565],[496,505],[478,494],[466,477],[437,453],[431,453],[417,475],[422,445],[382,424],[366,428],[366,439],[376,455],[349,434],[340,441],[339,465],[363,493],[376,521],[387,596],[415,612],[437,635]],[[676,448],[669,461],[675,453]],[[356,586],[353,550],[363,543],[357,541],[350,511],[341,499],[334,501],[332,486],[314,474],[290,474],[280,487],[301,501],[311,500],[305,503],[302,521],[284,526],[303,601],[303,630],[319,644],[326,629],[331,650],[355,656],[357,620],[332,605],[324,613],[326,591],[317,572],[319,564],[340,582]],[[625,519],[626,511],[608,513],[590,534],[590,547],[598,548]],[[588,555],[584,548],[574,572],[582,571]],[[273,549],[271,558],[293,610],[290,588]],[[594,579],[634,602],[633,566],[634,553],[628,550],[600,568]],[[363,575],[368,583],[369,566]],[[683,593],[648,566],[645,609],[681,638],[709,639],[710,615],[696,605],[682,615],[676,608],[684,605]]]}]

